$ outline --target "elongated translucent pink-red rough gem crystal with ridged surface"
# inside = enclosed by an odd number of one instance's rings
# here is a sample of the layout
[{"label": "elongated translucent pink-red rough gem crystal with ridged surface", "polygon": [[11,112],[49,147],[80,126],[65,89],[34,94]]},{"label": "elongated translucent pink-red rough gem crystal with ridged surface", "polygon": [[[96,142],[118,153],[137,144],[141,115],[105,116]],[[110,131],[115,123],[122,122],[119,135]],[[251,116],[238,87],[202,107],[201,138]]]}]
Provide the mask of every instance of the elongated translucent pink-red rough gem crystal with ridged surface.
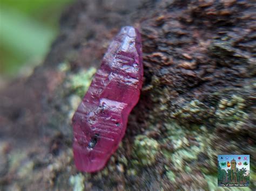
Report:
[{"label": "elongated translucent pink-red rough gem crystal with ridged surface", "polygon": [[142,82],[142,40],[134,27],[125,26],[111,42],[72,118],[73,153],[79,171],[99,171],[117,150]]}]

